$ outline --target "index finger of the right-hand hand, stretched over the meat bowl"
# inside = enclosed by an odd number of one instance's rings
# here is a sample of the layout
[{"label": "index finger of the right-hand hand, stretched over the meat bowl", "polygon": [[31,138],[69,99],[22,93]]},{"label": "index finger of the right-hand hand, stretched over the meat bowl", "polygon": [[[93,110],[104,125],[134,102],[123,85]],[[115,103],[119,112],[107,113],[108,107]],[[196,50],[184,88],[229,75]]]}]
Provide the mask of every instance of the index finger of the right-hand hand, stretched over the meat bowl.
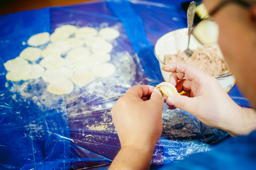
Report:
[{"label": "index finger of the right-hand hand, stretched over the meat bowl", "polygon": [[184,63],[165,64],[162,66],[162,69],[165,72],[184,73],[184,78],[190,80],[199,78],[203,75],[205,76],[204,72],[202,72],[200,69]]}]

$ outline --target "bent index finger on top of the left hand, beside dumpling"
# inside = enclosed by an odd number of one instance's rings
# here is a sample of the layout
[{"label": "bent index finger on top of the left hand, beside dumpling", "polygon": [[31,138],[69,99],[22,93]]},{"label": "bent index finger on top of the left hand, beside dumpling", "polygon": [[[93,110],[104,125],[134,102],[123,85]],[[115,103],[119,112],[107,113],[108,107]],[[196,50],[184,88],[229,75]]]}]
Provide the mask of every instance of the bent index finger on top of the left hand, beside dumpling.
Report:
[{"label": "bent index finger on top of the left hand, beside dumpling", "polygon": [[132,86],[128,91],[126,91],[126,96],[135,96],[138,98],[142,98],[143,96],[148,96],[152,94],[152,91],[155,89],[154,86],[148,85],[136,85]]}]

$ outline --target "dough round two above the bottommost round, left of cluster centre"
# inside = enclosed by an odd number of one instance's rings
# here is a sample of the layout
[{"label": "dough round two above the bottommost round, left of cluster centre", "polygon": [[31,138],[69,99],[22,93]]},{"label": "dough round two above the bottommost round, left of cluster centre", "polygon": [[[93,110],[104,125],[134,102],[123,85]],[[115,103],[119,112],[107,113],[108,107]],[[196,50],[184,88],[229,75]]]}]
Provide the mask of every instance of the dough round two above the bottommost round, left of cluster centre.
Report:
[{"label": "dough round two above the bottommost round, left of cluster centre", "polygon": [[57,69],[65,64],[66,60],[62,57],[46,57],[40,61],[41,64],[46,69]]}]

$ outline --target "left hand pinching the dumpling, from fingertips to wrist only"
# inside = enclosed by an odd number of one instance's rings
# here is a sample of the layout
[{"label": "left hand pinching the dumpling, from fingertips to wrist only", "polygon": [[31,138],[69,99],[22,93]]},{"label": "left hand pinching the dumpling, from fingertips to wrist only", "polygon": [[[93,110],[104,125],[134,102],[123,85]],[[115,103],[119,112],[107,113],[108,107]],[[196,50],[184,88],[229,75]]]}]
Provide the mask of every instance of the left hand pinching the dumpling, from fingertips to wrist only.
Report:
[{"label": "left hand pinching the dumpling, from fingertips to wrist only", "polygon": [[133,86],[113,106],[111,115],[121,148],[155,148],[162,133],[163,98],[153,90],[153,86]]}]

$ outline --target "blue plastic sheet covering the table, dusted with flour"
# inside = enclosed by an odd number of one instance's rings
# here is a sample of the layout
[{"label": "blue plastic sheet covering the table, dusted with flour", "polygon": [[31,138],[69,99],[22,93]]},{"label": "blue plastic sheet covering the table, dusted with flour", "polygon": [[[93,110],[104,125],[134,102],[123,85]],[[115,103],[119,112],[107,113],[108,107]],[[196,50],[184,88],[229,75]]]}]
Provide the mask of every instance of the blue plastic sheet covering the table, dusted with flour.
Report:
[{"label": "blue plastic sheet covering the table, dusted with flour", "polygon": [[[106,169],[120,144],[111,107],[130,86],[163,81],[153,47],[158,38],[186,27],[183,1],[98,1],[0,16],[0,169]],[[6,81],[11,60],[36,33],[71,24],[113,27],[121,33],[111,52],[117,72],[63,96],[45,94],[46,84]],[[249,107],[235,86],[230,96]],[[176,109],[163,110],[164,130],[152,165],[179,162],[207,152],[229,135]]]}]

